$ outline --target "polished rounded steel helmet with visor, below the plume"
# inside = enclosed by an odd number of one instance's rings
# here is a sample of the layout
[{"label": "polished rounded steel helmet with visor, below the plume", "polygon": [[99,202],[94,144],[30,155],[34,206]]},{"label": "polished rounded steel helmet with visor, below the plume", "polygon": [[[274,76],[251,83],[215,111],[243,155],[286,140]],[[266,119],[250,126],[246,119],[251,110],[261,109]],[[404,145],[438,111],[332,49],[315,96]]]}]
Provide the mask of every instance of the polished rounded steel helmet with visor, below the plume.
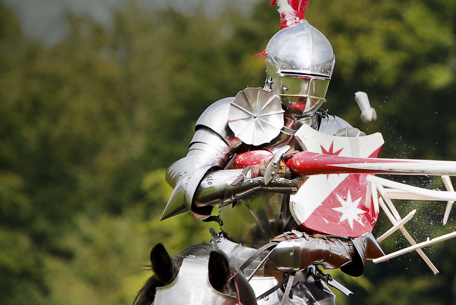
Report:
[{"label": "polished rounded steel helmet with visor, below the plume", "polygon": [[308,21],[286,27],[266,46],[266,87],[294,119],[312,117],[326,101],[336,57],[331,43]]}]

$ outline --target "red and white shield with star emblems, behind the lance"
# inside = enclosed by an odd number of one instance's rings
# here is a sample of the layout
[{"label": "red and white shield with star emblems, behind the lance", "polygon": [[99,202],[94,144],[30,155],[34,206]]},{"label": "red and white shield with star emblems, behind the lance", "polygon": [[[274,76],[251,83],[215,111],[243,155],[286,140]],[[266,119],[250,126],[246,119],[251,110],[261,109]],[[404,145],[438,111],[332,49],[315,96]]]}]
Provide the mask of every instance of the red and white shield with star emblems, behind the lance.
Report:
[{"label": "red and white shield with star emblems, behind the lance", "polygon": [[[376,158],[382,134],[341,137],[303,125],[295,137],[304,150],[344,157]],[[372,231],[378,209],[366,202],[366,174],[310,176],[290,197],[290,210],[301,227],[325,235],[359,237]]]}]

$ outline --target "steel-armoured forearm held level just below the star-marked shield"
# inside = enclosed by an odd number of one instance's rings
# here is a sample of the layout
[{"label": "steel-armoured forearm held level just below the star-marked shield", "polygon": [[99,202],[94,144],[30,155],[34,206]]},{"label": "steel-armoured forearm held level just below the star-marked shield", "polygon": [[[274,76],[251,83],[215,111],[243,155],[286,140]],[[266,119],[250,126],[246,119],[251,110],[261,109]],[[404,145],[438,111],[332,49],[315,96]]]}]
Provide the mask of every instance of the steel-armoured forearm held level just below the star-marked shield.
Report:
[{"label": "steel-armoured forearm held level just below the star-marked shield", "polygon": [[340,268],[348,275],[361,276],[366,259],[382,255],[372,233],[359,238],[305,236],[280,242],[270,261],[284,271],[320,264],[324,269]]}]

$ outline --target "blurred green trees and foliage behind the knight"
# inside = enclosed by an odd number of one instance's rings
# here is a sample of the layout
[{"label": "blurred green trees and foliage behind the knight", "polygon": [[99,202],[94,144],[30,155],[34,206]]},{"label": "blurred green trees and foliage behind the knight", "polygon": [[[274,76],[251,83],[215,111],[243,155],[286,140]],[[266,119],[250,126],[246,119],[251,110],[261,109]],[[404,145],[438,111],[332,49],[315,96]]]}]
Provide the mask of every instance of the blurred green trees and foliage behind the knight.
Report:
[{"label": "blurred green trees and foliage behind the knight", "polygon": [[[249,13],[203,5],[185,14],[135,2],[113,26],[70,13],[56,45],[24,36],[0,3],[0,304],[129,304],[149,272],[150,248],[171,253],[209,239],[188,214],[159,222],[164,174],[185,155],[193,124],[219,98],[264,81],[264,49],[279,27],[269,1]],[[314,0],[308,20],[337,64],[325,107],[385,138],[381,156],[456,159],[456,2]],[[353,93],[367,91],[378,120],[363,124]],[[395,177],[427,187],[431,178]],[[417,240],[441,227],[445,202],[401,203]],[[389,224],[380,218],[375,233]],[[396,233],[385,252],[406,246]],[[456,242],[368,263],[355,295],[338,304],[456,304]]]}]

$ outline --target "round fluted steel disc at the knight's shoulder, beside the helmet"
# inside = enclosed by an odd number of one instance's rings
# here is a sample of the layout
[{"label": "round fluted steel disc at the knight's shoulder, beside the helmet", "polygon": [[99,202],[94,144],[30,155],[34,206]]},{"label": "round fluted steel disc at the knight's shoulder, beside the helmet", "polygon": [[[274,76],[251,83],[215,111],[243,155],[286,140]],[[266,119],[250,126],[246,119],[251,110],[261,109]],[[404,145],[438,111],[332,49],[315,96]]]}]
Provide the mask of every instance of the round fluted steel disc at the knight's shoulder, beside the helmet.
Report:
[{"label": "round fluted steel disc at the knight's shoulder, beside the helmet", "polygon": [[250,145],[270,142],[284,126],[279,98],[263,88],[239,91],[230,104],[228,126],[236,138]]}]

